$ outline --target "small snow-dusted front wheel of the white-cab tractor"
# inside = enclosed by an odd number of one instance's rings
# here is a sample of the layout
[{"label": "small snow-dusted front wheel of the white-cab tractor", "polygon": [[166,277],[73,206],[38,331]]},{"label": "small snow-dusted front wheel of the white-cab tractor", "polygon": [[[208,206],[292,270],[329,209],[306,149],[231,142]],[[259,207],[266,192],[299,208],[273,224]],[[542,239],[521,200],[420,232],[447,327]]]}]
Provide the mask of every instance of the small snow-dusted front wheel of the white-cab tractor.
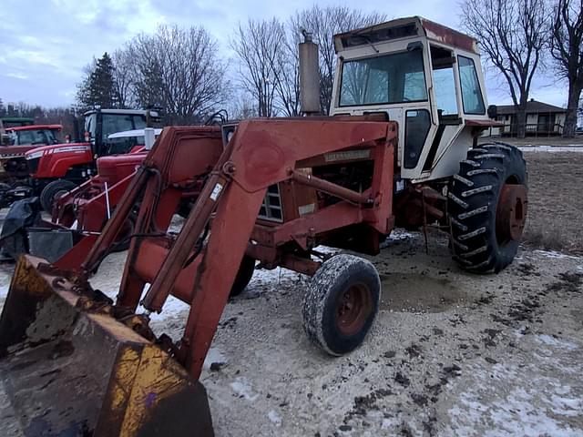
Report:
[{"label": "small snow-dusted front wheel of the white-cab tractor", "polygon": [[381,280],[373,264],[353,255],[328,259],[303,298],[303,329],[323,351],[340,356],[356,349],[373,326]]}]

